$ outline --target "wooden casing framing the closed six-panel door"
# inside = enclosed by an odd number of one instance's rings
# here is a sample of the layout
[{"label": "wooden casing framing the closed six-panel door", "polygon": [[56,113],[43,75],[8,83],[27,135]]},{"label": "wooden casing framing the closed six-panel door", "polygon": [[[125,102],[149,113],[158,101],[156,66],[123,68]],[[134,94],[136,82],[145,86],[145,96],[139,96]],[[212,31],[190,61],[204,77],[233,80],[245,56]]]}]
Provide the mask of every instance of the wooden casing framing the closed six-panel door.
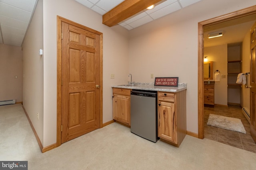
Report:
[{"label": "wooden casing framing the closed six-panel door", "polygon": [[100,35],[100,128],[102,128],[102,89],[103,89],[103,53],[102,53],[102,33],[86,27],[84,25],[75,23],[73,21],[67,20],[60,16],[57,16],[57,140],[56,147],[61,145],[61,120],[62,120],[62,22],[76,25],[76,27],[80,27],[82,29],[86,29],[92,33]]}]

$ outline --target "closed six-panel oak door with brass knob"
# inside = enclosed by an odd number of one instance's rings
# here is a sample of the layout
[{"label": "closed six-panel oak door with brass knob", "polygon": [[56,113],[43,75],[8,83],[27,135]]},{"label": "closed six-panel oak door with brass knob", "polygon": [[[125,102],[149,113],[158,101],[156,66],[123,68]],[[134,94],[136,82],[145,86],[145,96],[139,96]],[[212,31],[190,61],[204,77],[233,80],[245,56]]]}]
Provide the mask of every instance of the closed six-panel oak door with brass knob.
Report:
[{"label": "closed six-panel oak door with brass knob", "polygon": [[62,22],[64,143],[100,126],[100,35]]}]

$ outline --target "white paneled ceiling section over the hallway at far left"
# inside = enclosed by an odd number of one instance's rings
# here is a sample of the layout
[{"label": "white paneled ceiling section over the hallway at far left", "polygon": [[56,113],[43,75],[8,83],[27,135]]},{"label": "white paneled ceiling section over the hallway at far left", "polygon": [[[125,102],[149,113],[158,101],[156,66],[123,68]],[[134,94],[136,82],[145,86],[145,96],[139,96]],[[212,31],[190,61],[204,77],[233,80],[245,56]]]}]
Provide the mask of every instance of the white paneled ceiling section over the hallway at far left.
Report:
[{"label": "white paneled ceiling section over the hallway at far left", "polygon": [[0,0],[0,43],[21,46],[37,0]]}]

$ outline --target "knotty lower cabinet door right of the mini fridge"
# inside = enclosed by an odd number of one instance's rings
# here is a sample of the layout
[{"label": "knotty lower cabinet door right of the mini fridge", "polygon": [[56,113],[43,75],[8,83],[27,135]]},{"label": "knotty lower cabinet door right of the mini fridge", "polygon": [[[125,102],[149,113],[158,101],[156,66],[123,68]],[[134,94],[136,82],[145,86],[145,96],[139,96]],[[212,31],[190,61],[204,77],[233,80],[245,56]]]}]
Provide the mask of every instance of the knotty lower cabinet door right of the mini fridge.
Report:
[{"label": "knotty lower cabinet door right of the mini fridge", "polygon": [[177,143],[174,103],[158,102],[158,137]]}]

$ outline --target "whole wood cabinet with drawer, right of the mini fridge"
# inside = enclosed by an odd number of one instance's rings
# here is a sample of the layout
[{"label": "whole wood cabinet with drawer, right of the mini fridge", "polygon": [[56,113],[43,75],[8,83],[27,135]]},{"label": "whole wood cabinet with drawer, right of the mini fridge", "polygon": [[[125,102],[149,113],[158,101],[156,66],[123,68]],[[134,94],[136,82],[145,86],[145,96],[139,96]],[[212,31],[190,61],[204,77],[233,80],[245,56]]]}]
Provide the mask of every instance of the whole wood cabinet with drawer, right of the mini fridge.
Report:
[{"label": "whole wood cabinet with drawer, right of the mini fridge", "polygon": [[158,137],[179,147],[186,136],[186,90],[158,92]]}]

